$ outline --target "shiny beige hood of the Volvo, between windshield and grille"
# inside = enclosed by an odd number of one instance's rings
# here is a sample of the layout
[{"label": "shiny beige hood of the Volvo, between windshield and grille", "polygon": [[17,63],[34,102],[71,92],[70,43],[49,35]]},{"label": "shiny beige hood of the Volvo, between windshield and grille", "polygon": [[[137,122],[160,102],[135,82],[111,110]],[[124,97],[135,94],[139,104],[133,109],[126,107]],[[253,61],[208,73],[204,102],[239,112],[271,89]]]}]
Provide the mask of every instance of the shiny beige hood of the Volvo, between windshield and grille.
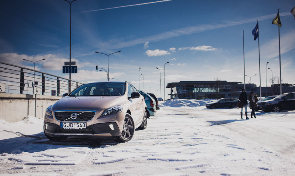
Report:
[{"label": "shiny beige hood of the Volvo, between windshield and grille", "polygon": [[53,105],[52,110],[107,109],[125,103],[124,96],[65,96]]}]

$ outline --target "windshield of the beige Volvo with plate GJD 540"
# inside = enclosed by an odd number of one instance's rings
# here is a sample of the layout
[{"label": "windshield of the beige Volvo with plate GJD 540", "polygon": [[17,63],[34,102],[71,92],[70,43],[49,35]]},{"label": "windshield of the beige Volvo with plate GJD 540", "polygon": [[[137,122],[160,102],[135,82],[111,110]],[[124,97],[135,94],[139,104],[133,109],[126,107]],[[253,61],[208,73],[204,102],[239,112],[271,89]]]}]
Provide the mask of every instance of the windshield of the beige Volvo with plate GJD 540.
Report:
[{"label": "windshield of the beige Volvo with plate GJD 540", "polygon": [[118,96],[125,93],[125,83],[88,83],[78,87],[69,96]]}]

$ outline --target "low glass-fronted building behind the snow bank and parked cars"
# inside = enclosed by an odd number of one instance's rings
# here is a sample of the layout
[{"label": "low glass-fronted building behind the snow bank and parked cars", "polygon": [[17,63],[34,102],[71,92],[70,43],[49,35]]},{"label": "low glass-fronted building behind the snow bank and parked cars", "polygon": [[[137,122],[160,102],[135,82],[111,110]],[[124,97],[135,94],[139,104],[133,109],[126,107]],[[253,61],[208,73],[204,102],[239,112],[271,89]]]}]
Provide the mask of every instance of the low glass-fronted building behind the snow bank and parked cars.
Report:
[{"label": "low glass-fronted building behind the snow bank and parked cars", "polygon": [[[271,87],[262,87],[262,96],[279,95],[274,91],[278,85]],[[241,82],[227,82],[227,81],[180,81],[178,83],[168,83],[166,88],[170,88],[170,99],[178,97],[179,99],[219,99],[234,97],[238,98],[241,89],[244,89],[244,83]],[[253,91],[260,96],[259,87],[255,84],[245,84],[247,94]],[[295,86],[284,84],[283,93],[295,92]]]}]

